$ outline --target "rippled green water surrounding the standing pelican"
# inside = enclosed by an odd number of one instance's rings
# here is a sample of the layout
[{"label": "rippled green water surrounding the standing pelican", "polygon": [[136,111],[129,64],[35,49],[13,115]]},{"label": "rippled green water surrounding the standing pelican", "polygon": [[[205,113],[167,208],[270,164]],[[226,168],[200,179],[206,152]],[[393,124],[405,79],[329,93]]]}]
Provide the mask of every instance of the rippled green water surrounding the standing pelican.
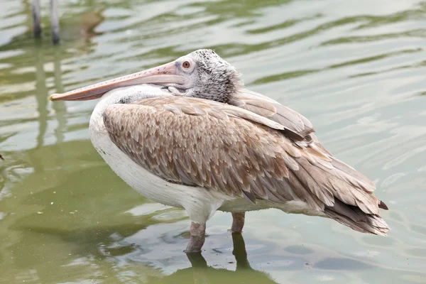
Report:
[{"label": "rippled green water surrounding the standing pelican", "polygon": [[[58,47],[42,3],[37,41],[28,2],[0,0],[0,283],[426,283],[425,1],[62,0]],[[96,102],[47,100],[197,48],[374,180],[388,238],[266,210],[233,239],[218,212],[190,262],[185,212],[92,147]]]}]

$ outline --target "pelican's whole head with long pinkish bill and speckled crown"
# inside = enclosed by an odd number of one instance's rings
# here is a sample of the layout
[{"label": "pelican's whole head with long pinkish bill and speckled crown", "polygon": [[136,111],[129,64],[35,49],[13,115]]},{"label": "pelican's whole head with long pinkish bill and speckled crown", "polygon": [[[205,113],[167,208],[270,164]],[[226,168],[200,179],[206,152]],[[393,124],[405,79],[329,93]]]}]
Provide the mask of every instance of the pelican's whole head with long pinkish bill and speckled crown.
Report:
[{"label": "pelican's whole head with long pinkish bill and speckled crown", "polygon": [[52,94],[50,100],[97,99],[111,89],[137,84],[168,87],[175,95],[229,102],[243,86],[239,72],[213,50],[200,49],[173,62],[148,70],[117,77],[63,94]]}]

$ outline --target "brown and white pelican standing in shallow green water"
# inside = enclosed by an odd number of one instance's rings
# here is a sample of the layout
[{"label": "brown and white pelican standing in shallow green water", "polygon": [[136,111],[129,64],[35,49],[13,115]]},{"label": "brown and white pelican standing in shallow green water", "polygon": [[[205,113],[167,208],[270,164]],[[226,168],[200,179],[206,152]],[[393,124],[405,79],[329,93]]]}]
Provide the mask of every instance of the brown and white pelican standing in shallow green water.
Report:
[{"label": "brown and white pelican standing in shallow green water", "polygon": [[389,230],[373,182],[334,158],[304,116],[244,89],[239,72],[212,50],[50,96],[97,98],[94,147],[133,189],[186,210],[187,253],[202,249],[217,210],[231,212],[236,233],[245,212],[268,208],[368,234]]}]

